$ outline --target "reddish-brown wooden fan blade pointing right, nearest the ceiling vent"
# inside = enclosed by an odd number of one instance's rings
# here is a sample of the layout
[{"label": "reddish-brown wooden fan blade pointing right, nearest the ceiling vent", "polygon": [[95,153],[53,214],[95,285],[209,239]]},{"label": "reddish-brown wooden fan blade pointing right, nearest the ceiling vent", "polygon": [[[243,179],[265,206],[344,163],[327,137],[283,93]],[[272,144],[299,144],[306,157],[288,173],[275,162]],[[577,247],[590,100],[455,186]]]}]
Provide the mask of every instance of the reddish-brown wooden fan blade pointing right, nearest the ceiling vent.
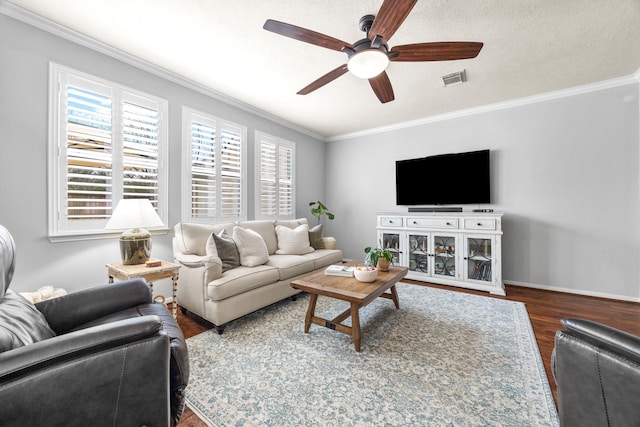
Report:
[{"label": "reddish-brown wooden fan blade pointing right, nearest the ceiling vent", "polygon": [[[480,53],[481,42],[433,42],[395,46],[389,60],[395,62],[452,61],[475,58]],[[397,56],[394,56],[396,55]]]}]

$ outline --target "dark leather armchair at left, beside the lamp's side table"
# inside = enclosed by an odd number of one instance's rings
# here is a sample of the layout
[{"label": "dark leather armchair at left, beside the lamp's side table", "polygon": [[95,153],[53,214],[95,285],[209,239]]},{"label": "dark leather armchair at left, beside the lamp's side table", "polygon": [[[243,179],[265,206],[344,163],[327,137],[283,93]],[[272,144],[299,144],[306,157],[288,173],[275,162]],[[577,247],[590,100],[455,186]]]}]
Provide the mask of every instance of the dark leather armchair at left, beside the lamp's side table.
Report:
[{"label": "dark leather armchair at left, beside the lamp's side table", "polygon": [[189,359],[142,279],[32,304],[8,289],[14,242],[0,226],[0,425],[169,426]]}]

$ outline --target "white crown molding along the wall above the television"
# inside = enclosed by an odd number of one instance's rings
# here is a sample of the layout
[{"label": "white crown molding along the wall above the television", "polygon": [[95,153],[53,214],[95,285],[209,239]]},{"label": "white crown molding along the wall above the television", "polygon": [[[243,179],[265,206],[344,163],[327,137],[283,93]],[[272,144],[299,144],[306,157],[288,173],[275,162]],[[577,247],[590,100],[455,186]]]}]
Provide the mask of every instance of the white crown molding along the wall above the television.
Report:
[{"label": "white crown molding along the wall above the television", "polygon": [[468,108],[465,110],[453,111],[451,113],[438,114],[435,116],[429,116],[422,119],[411,120],[402,123],[396,123],[389,126],[380,126],[377,128],[371,128],[364,131],[346,133],[342,135],[336,135],[332,137],[328,137],[325,140],[327,142],[330,141],[341,141],[351,138],[357,138],[362,136],[369,136],[378,133],[391,132],[399,129],[406,129],[415,126],[421,126],[429,123],[441,122],[445,120],[457,119],[460,117],[472,116],[476,114],[483,114],[491,111],[504,110],[507,108],[514,108],[523,105],[536,104],[538,102],[545,102],[554,99],[566,98],[569,96],[582,95],[591,92],[597,92],[604,89],[611,89],[619,86],[624,86],[628,84],[638,84],[640,83],[640,69],[636,71],[634,74],[626,77],[620,77],[610,80],[604,80],[601,82],[590,83],[582,86],[576,86],[568,89],[562,89],[553,92],[547,92],[539,95],[528,96],[524,98],[513,99],[510,101],[497,102],[494,104],[483,105],[480,107]]}]

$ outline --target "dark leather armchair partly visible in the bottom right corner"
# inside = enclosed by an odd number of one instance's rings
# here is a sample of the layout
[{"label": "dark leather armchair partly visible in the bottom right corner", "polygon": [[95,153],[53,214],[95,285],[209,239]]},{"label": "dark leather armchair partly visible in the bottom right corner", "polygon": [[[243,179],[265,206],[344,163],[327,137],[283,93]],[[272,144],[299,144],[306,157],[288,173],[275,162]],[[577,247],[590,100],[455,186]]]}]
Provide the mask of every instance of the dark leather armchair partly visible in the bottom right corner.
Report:
[{"label": "dark leather armchair partly visible in the bottom right corner", "polygon": [[551,359],[560,425],[640,425],[640,337],[585,319],[561,322]]}]

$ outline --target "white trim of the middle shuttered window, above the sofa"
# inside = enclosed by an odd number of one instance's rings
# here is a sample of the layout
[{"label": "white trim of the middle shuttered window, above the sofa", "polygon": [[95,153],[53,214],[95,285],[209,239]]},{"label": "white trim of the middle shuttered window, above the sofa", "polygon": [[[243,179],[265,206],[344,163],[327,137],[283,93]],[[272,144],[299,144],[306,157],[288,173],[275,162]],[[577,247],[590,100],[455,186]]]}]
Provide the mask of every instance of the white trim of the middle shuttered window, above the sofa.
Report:
[{"label": "white trim of the middle shuttered window, above the sofa", "polygon": [[[235,127],[240,129],[241,131],[241,159],[240,159],[240,168],[241,168],[241,207],[240,207],[240,215],[238,217],[229,217],[229,216],[221,216],[216,215],[214,217],[194,217],[192,216],[191,210],[191,121],[197,118],[204,123],[209,123],[211,126],[216,129],[224,128],[225,126]],[[218,145],[217,150],[219,154],[220,146]],[[216,159],[219,159],[220,156],[216,155]],[[216,175],[220,176],[220,168],[216,165]],[[220,180],[216,180],[216,182],[220,183]],[[216,206],[220,206],[220,192],[217,192],[216,195]],[[216,223],[216,222],[235,222],[235,221],[243,221],[247,219],[247,127],[240,125],[238,123],[233,123],[229,120],[222,119],[220,117],[216,117],[212,114],[205,113],[203,111],[199,111],[190,107],[183,106],[182,107],[182,221],[183,222],[195,222],[195,223]]]}]

